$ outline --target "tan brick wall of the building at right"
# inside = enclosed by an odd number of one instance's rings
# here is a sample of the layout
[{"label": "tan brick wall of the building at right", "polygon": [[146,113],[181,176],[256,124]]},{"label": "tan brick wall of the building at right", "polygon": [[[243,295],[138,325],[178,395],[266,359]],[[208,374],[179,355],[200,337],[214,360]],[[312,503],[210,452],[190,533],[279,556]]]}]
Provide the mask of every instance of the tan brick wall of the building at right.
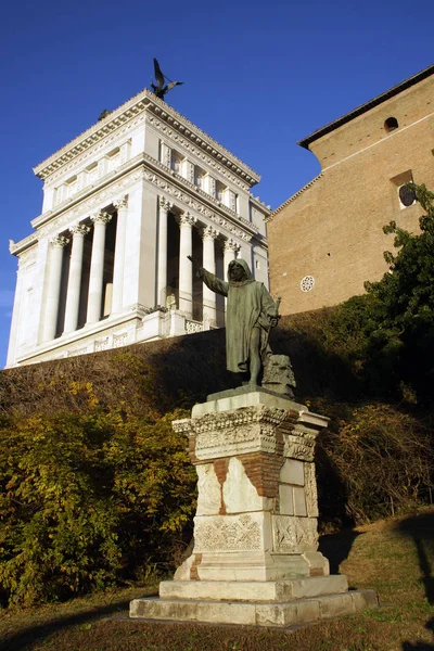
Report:
[{"label": "tan brick wall of the building at right", "polygon": [[[434,188],[434,76],[354,118],[310,144],[321,176],[268,222],[270,288],[281,314],[336,305],[363,292],[387,270],[383,233],[391,219],[417,231],[419,205],[401,208],[399,175]],[[384,128],[388,117],[399,127]],[[305,276],[314,289],[301,290]]]}]

